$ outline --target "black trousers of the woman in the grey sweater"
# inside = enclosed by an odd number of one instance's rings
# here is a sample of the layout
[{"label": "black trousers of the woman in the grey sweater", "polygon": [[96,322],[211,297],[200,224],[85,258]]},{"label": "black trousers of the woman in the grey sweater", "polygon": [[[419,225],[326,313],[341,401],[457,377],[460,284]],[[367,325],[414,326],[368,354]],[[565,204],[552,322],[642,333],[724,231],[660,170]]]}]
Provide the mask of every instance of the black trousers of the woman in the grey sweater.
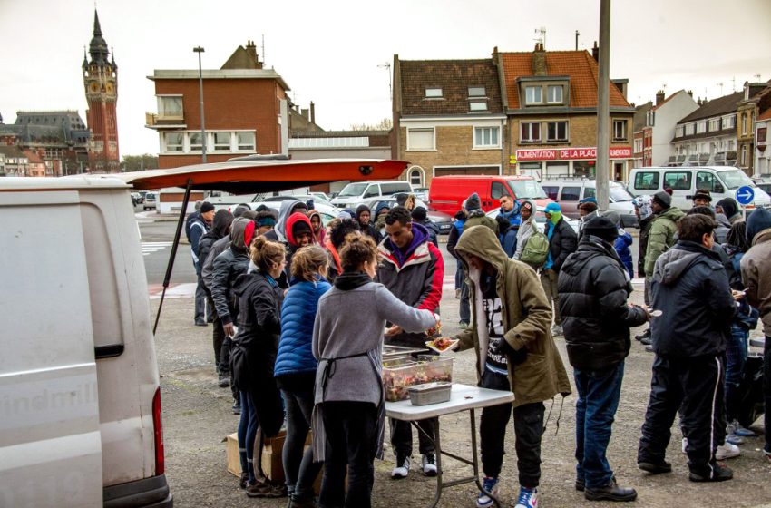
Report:
[{"label": "black trousers of the woman in the grey sweater", "polygon": [[327,449],[318,505],[320,508],[369,508],[375,483],[376,405],[325,402],[322,410]]}]

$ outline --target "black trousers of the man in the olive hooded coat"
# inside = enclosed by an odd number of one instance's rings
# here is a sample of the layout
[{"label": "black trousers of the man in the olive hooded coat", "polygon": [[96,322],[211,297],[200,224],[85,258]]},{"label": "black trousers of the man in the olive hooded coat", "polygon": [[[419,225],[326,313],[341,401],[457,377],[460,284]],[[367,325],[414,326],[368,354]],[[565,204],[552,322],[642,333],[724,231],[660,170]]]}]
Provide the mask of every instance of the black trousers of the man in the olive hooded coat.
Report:
[{"label": "black trousers of the man in the olive hooded coat", "polygon": [[[483,388],[493,390],[511,390],[509,377],[484,371]],[[514,414],[514,449],[517,452],[517,469],[520,485],[535,488],[541,482],[541,435],[543,434],[542,402],[515,407]],[[482,409],[479,424],[480,449],[482,451],[482,469],[486,476],[497,477],[503,466],[503,445],[506,427],[512,416],[512,405],[493,405]]]}]

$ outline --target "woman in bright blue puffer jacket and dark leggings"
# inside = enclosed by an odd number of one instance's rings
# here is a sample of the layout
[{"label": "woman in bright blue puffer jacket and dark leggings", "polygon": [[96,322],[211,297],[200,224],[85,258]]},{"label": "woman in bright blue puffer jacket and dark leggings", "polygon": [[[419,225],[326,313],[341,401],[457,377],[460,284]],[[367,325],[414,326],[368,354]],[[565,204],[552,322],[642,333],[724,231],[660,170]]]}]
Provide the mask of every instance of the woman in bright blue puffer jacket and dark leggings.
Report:
[{"label": "woman in bright blue puffer jacket and dark leggings", "polygon": [[317,360],[311,341],[318,298],[332,288],[326,279],[327,253],[318,246],[298,249],[292,258],[292,278],[281,308],[281,338],[274,373],[287,408],[287,440],[282,461],[292,505],[313,503],[313,483],[321,463],[313,450],[303,453],[314,405]]}]

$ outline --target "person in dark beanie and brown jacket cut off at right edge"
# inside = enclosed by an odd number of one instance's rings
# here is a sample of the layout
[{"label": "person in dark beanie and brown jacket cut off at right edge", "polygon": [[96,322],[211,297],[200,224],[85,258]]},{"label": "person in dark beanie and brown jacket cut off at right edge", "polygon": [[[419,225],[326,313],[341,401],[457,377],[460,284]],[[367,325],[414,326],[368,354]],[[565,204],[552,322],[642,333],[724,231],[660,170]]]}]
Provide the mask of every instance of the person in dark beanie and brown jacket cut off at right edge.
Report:
[{"label": "person in dark beanie and brown jacket cut off at right edge", "polygon": [[771,211],[759,208],[750,214],[747,243],[751,247],[741,259],[742,280],[747,285],[747,301],[760,311],[766,336],[763,349],[766,445],[763,452],[771,462]]}]

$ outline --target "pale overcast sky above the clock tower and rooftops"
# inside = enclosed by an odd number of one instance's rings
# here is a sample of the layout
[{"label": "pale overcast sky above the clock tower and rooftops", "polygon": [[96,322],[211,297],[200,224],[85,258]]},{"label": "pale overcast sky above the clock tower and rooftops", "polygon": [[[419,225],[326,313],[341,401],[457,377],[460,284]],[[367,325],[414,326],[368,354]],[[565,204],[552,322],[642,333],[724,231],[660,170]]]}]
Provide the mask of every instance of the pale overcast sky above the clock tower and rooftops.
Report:
[{"label": "pale overcast sky above the clock tower and rooftops", "polygon": [[[93,0],[0,0],[0,114],[74,109],[85,120],[83,45],[93,32]],[[600,0],[99,0],[102,33],[119,67],[121,153],[157,153],[144,128],[156,112],[154,69],[219,69],[249,39],[281,74],[295,103],[316,103],[327,130],[390,116],[389,71],[405,60],[487,58],[531,51],[546,29],[547,50],[580,49],[598,38]],[[610,77],[629,79],[629,101],[691,89],[714,99],[745,81],[771,78],[769,0],[613,0]],[[717,83],[723,83],[722,88]],[[722,92],[722,93],[721,93]]]}]

